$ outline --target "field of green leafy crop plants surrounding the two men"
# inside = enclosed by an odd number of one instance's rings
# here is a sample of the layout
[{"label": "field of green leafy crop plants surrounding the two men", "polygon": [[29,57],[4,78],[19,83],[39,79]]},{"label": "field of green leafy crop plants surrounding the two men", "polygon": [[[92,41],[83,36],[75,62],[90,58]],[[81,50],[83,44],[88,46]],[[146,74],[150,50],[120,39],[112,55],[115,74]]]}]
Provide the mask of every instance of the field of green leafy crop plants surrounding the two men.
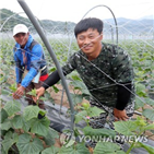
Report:
[{"label": "field of green leafy crop plants surrounding the two men", "polygon": [[[48,70],[51,73],[56,70],[55,62],[50,58],[46,47],[42,43],[40,39],[37,39],[44,47]],[[105,40],[108,42],[108,40]],[[49,43],[55,51],[57,59],[60,66],[63,66],[69,56],[79,50],[76,43],[73,40],[70,45],[70,40],[68,39],[49,39]],[[62,145],[59,149],[54,146],[55,138],[58,138],[58,133],[54,130],[48,130],[48,118],[47,121],[38,122],[42,129],[34,129],[32,121],[36,118],[36,115],[33,116],[32,112],[27,110],[32,108],[25,107],[23,111],[23,118],[28,123],[29,128],[24,128],[23,125],[19,125],[14,122],[15,119],[20,119],[19,115],[22,112],[20,106],[20,100],[12,100],[11,95],[13,91],[15,91],[15,73],[14,73],[14,60],[13,60],[13,52],[12,48],[14,46],[13,39],[2,39],[0,42],[1,52],[0,52],[0,60],[1,60],[1,69],[0,69],[0,81],[1,81],[1,95],[8,97],[9,100],[1,97],[1,112],[2,112],[2,120],[1,120],[1,129],[2,129],[2,152],[14,152],[13,146],[16,143],[19,151],[22,151],[22,154],[27,154],[26,149],[31,151],[29,142],[33,143],[33,146],[36,147],[38,152],[42,151],[42,154],[48,154],[52,151],[52,153],[59,154],[67,154],[71,151],[74,153],[83,154],[83,153],[94,153],[97,154],[100,151],[105,151],[110,149],[110,152],[115,152],[119,154],[119,146],[111,142],[106,142],[103,146],[102,143],[97,143],[95,149],[86,149],[82,143],[76,143],[75,141],[71,140],[69,145]],[[146,137],[147,139],[154,140],[154,40],[120,40],[119,46],[122,47],[125,50],[129,52],[132,59],[132,64],[134,68],[135,74],[135,115],[132,121],[118,121],[115,122],[115,130],[123,135],[137,135],[137,137]],[[67,76],[68,86],[71,93],[71,97],[73,100],[73,106],[75,109],[75,123],[81,120],[84,120],[88,123],[88,118],[93,116],[98,116],[100,110],[97,108],[93,108],[92,110],[88,107],[88,92],[80,80],[79,74],[74,71],[73,73]],[[68,112],[70,111],[70,106],[66,96],[63,94],[61,82],[57,85],[50,87],[45,95],[45,100],[48,99],[55,104],[61,104],[68,108]],[[87,106],[84,106],[82,103],[86,103]],[[33,108],[34,109],[34,108]],[[35,108],[36,109],[36,108]],[[11,111],[10,111],[11,110]],[[40,111],[38,108],[36,109],[37,114]],[[91,110],[91,111],[90,111]],[[20,112],[20,114],[19,114]],[[22,115],[22,114],[21,114]],[[71,114],[70,114],[71,116]],[[14,120],[13,120],[14,119]],[[133,126],[133,127],[132,127]],[[24,128],[24,129],[23,129]],[[15,131],[12,131],[14,129]],[[50,135],[45,133],[44,130],[50,132]],[[91,127],[87,125],[83,130],[79,128],[74,128],[74,135],[81,135],[80,131],[82,131],[85,135],[104,135],[104,137],[114,137],[115,131],[103,129],[92,130]],[[47,138],[50,137],[50,139]],[[33,137],[33,138],[32,138]],[[44,137],[45,140],[42,140],[40,137]],[[11,139],[9,141],[8,139]],[[23,145],[23,141],[27,140],[25,145]],[[23,147],[23,150],[21,150]],[[150,154],[153,153],[154,149],[146,144],[135,142],[134,140],[130,142],[130,149],[127,152],[121,152],[121,154],[129,154],[129,152],[133,147],[144,147]],[[16,150],[16,147],[15,147]],[[14,152],[15,153],[15,152]],[[107,153],[107,151],[106,151]]]}]

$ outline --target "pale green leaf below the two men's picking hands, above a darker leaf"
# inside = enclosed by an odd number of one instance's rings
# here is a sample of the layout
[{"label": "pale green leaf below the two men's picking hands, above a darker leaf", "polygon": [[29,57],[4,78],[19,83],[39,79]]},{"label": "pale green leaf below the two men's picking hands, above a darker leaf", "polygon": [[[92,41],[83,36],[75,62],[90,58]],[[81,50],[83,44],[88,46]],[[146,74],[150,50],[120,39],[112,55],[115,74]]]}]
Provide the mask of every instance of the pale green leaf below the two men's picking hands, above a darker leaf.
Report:
[{"label": "pale green leaf below the two men's picking hands, above a darker leaf", "polygon": [[24,108],[23,117],[25,118],[26,121],[31,120],[32,118],[37,118],[39,110],[40,109],[38,106],[29,105]]}]

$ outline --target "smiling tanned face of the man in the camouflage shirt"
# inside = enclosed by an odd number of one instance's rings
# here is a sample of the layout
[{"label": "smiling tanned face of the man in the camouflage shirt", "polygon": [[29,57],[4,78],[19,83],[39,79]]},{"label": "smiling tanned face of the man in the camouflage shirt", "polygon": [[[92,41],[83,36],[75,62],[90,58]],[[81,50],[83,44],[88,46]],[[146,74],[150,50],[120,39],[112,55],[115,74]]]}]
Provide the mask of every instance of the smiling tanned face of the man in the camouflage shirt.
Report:
[{"label": "smiling tanned face of the man in the camouflage shirt", "polygon": [[92,55],[99,51],[103,35],[97,29],[88,28],[86,32],[78,34],[76,42],[85,55]]}]

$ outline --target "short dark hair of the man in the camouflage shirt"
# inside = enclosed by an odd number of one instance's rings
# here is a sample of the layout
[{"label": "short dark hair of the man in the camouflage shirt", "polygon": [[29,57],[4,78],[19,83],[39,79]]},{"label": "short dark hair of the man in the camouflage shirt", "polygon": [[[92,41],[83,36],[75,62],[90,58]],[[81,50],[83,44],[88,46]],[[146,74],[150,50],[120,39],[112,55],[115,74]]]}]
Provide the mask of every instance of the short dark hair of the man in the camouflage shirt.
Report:
[{"label": "short dark hair of the man in the camouflage shirt", "polygon": [[74,28],[74,35],[78,36],[79,33],[85,32],[88,28],[97,29],[100,34],[103,32],[103,21],[96,17],[88,17],[81,20]]}]

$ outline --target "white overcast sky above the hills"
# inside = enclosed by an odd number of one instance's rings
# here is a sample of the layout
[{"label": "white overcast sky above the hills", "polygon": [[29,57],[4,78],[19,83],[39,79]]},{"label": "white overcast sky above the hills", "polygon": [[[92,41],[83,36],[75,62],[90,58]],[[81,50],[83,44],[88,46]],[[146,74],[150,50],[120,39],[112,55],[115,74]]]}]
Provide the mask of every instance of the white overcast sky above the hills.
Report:
[{"label": "white overcast sky above the hills", "polygon": [[[22,1],[22,0],[21,0]],[[39,20],[78,23],[82,17],[140,19],[154,16],[154,0],[24,0],[33,14]],[[106,7],[104,7],[106,5]],[[26,16],[17,0],[1,0],[0,9],[9,9]],[[87,14],[86,14],[87,13]]]}]

